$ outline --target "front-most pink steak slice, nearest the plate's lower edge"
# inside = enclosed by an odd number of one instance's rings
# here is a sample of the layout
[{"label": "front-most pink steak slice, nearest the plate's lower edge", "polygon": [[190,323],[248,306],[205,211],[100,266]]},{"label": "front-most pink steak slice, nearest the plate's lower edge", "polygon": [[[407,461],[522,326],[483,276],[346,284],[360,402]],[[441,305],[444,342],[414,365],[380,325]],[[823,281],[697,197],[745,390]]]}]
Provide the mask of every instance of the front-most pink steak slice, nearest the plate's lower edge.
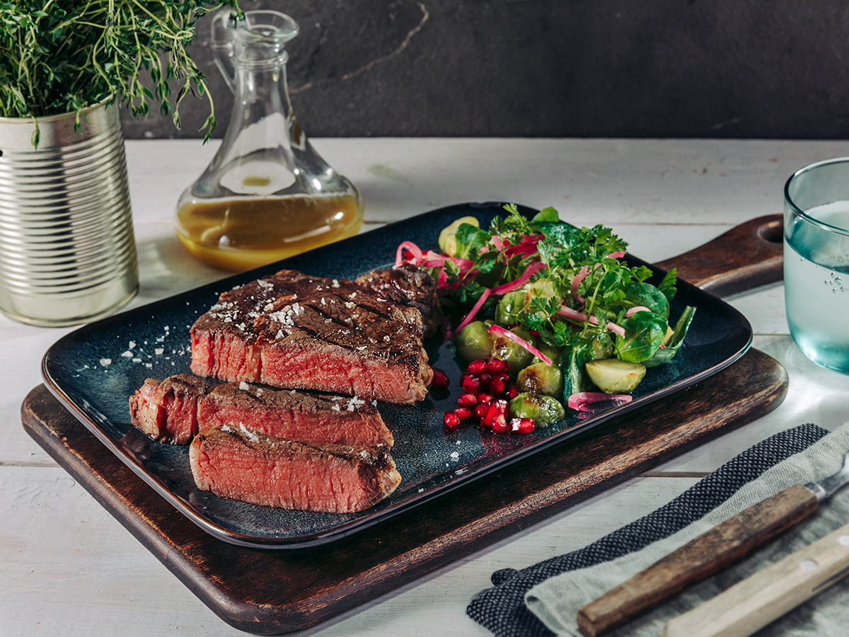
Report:
[{"label": "front-most pink steak slice, nearest the plate's lower edge", "polygon": [[245,427],[202,431],[188,458],[201,490],[284,509],[361,511],[401,482],[385,449],[307,445]]}]

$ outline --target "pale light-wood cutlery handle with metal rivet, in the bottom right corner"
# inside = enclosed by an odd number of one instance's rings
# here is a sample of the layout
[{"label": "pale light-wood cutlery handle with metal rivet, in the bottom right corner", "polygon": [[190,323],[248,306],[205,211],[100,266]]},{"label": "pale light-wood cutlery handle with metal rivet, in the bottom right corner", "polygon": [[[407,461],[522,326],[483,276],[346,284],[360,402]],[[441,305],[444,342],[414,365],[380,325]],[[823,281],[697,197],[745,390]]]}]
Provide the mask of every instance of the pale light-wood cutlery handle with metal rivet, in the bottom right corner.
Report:
[{"label": "pale light-wood cutlery handle with metal rivet, in the bottom right corner", "polygon": [[746,637],[849,575],[849,524],[666,623],[663,637]]}]

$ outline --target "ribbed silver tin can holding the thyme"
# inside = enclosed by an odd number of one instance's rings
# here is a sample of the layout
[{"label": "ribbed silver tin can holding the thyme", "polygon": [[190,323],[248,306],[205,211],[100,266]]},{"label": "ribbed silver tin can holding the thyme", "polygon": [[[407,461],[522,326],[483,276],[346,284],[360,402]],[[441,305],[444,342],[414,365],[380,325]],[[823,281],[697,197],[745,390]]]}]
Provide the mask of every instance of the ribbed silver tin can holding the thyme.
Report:
[{"label": "ribbed silver tin can holding the thyme", "polygon": [[76,121],[0,117],[0,311],[22,323],[84,323],[138,291],[118,107]]}]

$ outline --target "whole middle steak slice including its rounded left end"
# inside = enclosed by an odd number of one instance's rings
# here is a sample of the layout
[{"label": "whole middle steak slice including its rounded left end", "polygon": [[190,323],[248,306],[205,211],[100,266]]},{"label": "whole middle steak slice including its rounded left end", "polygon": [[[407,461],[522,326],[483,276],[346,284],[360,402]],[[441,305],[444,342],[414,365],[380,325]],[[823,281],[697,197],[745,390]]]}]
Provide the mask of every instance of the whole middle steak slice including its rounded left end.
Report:
[{"label": "whole middle steak slice including its rounded left end", "polygon": [[132,424],[150,437],[178,444],[199,430],[227,425],[306,443],[387,448],[394,443],[371,403],[245,382],[212,385],[188,374],[144,381],[130,397],[130,412]]}]

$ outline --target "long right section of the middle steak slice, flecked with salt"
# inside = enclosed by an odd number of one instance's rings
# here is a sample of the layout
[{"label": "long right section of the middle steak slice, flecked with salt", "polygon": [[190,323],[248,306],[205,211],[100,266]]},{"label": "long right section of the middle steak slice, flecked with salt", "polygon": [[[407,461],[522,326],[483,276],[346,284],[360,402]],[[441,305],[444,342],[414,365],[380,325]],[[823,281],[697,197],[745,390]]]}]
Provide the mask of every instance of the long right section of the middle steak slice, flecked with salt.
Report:
[{"label": "long right section of the middle steak slice, flecked with salt", "polygon": [[268,436],[305,443],[391,448],[395,442],[373,403],[245,382],[214,386],[200,401],[198,420],[201,429],[243,424]]}]

